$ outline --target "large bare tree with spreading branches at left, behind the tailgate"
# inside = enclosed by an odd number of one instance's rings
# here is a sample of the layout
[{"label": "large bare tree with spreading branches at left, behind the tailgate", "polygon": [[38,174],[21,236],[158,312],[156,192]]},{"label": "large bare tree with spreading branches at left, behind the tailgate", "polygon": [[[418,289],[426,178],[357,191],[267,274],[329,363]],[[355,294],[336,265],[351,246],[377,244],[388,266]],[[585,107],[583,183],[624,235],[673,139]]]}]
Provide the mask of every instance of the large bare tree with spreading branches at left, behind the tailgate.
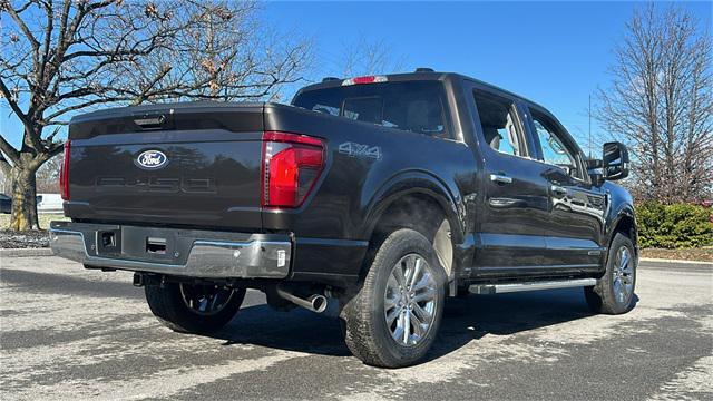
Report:
[{"label": "large bare tree with spreading branches at left, behind the tailgate", "polygon": [[69,117],[106,105],[261,99],[301,79],[310,42],[271,35],[255,2],[0,0],[0,133],[13,182],[11,229],[37,227],[36,173],[61,153]]}]

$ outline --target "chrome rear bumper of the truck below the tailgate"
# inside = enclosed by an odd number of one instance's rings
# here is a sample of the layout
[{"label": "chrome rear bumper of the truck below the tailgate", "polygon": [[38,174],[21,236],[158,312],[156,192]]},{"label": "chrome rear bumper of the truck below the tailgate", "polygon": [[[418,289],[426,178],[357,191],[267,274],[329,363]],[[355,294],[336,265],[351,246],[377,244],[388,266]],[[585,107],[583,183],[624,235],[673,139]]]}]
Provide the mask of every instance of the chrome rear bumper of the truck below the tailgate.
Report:
[{"label": "chrome rear bumper of the truck below the tailgate", "polygon": [[55,255],[88,266],[189,277],[285,278],[292,257],[286,234],[52,222],[49,236]]}]

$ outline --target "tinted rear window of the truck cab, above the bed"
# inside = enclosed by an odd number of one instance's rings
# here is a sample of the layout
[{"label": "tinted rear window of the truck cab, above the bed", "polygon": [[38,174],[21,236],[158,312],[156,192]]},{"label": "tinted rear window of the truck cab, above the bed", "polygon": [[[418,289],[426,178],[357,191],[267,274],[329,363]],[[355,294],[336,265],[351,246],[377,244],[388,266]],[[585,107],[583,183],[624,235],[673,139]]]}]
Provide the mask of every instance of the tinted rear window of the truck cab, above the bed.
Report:
[{"label": "tinted rear window of the truck cab, above the bed", "polygon": [[411,133],[450,138],[443,86],[404,81],[315,89],[297,95],[294,106]]}]

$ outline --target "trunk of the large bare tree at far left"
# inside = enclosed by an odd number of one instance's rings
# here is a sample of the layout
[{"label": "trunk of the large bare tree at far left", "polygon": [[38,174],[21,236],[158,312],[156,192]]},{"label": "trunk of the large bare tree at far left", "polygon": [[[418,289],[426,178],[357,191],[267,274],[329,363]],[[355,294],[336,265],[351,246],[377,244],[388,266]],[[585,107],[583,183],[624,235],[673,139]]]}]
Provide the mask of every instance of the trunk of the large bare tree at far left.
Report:
[{"label": "trunk of the large bare tree at far left", "polygon": [[37,168],[18,164],[12,167],[12,215],[10,229],[39,229],[37,218],[37,189],[35,174]]}]

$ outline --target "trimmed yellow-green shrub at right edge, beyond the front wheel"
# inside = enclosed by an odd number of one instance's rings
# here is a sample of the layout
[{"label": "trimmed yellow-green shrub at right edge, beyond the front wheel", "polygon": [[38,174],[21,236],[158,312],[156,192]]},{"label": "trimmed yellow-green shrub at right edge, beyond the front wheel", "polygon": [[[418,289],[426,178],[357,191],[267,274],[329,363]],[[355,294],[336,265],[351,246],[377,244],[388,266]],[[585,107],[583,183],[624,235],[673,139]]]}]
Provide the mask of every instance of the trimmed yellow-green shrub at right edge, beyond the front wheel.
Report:
[{"label": "trimmed yellow-green shrub at right edge, beyond the front wheel", "polygon": [[699,247],[713,245],[711,209],[690,204],[646,202],[636,206],[641,247]]}]

